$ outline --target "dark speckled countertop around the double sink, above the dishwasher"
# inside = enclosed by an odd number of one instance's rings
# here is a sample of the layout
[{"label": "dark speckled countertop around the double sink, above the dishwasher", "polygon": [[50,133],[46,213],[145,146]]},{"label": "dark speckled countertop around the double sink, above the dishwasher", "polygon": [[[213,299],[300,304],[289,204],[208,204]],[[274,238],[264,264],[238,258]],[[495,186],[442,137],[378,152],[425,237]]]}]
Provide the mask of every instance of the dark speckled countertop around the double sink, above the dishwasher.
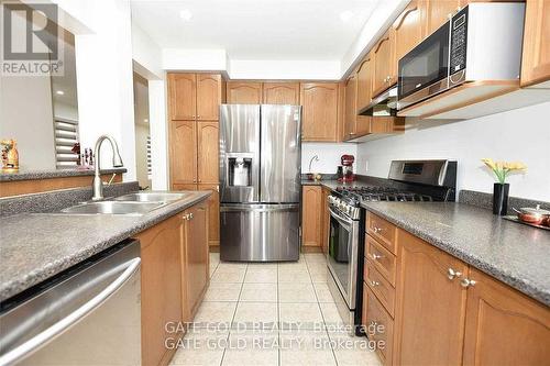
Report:
[{"label": "dark speckled countertop around the double sink, above the dishwasher", "polygon": [[2,218],[0,301],[208,198],[193,191],[141,217],[21,213]]}]

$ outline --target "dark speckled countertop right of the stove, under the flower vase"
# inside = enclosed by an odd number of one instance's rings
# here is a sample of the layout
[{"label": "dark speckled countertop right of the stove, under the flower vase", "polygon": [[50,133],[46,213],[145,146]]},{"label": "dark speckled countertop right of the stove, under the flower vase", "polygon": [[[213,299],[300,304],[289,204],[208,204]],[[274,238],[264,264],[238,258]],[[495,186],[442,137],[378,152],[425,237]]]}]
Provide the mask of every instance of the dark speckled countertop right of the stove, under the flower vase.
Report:
[{"label": "dark speckled countertop right of the stove, under the flower vase", "polygon": [[550,306],[550,232],[455,202],[367,202],[362,206]]}]

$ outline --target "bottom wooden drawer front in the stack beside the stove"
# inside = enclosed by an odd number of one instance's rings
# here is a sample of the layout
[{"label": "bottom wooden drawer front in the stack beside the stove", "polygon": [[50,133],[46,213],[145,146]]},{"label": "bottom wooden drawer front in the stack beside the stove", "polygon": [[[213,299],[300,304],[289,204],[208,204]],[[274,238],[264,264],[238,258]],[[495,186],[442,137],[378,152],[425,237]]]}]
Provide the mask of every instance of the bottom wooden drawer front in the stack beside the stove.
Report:
[{"label": "bottom wooden drawer front in the stack beside the stove", "polygon": [[[384,365],[392,365],[394,321],[369,286],[364,286],[366,300],[366,326],[370,341],[376,342],[376,353]],[[382,326],[381,326],[382,325]],[[383,341],[384,343],[382,343]]]}]

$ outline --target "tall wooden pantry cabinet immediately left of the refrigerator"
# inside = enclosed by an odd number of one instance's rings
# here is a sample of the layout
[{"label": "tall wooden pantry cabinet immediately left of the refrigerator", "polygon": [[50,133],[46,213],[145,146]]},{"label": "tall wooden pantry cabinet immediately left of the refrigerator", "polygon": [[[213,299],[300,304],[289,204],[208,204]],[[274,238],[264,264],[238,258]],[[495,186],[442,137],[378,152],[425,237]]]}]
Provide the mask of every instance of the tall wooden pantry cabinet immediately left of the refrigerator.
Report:
[{"label": "tall wooden pantry cabinet immediately left of the refrigerator", "polygon": [[211,190],[208,237],[219,245],[220,74],[168,73],[169,177],[173,190]]}]

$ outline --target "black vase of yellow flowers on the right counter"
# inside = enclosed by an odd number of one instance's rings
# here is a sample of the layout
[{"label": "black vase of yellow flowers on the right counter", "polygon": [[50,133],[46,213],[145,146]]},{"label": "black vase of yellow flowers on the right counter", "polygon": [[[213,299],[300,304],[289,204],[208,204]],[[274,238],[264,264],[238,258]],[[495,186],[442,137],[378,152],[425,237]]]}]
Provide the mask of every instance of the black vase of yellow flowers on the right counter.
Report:
[{"label": "black vase of yellow flowers on the right counter", "polygon": [[493,187],[493,213],[505,215],[508,211],[508,191],[509,184],[506,178],[510,173],[525,171],[527,166],[520,162],[493,162],[491,158],[484,158],[482,162],[494,173],[496,179]]}]

